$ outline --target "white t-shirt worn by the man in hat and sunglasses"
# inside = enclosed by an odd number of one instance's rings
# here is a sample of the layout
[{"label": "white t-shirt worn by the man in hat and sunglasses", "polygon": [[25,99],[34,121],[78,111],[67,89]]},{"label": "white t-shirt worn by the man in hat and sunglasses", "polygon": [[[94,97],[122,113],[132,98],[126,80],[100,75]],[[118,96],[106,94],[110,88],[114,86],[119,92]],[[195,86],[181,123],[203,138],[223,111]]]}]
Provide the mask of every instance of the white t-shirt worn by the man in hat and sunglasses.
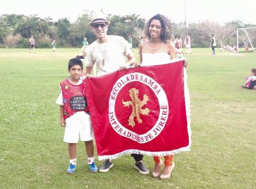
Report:
[{"label": "white t-shirt worn by the man in hat and sunglasses", "polygon": [[115,72],[126,62],[125,56],[131,54],[129,43],[123,37],[108,35],[107,39],[105,43],[98,43],[96,40],[87,49],[86,66],[96,64],[99,69],[97,75]]}]

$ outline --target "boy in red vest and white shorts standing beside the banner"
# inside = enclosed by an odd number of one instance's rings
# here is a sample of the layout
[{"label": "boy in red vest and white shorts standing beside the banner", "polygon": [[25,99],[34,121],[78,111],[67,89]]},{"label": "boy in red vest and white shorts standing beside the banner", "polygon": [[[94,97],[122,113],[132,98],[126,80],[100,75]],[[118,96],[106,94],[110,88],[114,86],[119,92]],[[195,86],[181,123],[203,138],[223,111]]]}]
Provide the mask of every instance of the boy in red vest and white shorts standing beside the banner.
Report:
[{"label": "boy in red vest and white shorts standing beside the banner", "polygon": [[56,101],[60,105],[60,124],[65,127],[63,140],[68,143],[70,160],[67,173],[74,173],[76,170],[76,144],[79,139],[84,141],[90,171],[97,172],[93,156],[94,133],[81,78],[82,61],[77,58],[70,59],[68,72],[70,77],[60,83],[61,91]]}]

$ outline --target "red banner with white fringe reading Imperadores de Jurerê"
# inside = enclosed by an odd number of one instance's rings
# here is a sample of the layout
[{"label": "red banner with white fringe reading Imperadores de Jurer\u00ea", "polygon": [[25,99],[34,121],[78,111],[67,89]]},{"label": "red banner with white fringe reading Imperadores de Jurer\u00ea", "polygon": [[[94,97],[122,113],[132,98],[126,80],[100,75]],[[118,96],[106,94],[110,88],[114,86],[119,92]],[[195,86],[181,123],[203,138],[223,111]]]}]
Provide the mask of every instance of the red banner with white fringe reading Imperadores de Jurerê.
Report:
[{"label": "red banner with white fringe reading Imperadores de Jurer\u00ea", "polygon": [[84,86],[99,160],[189,150],[189,92],[183,61],[92,77]]}]

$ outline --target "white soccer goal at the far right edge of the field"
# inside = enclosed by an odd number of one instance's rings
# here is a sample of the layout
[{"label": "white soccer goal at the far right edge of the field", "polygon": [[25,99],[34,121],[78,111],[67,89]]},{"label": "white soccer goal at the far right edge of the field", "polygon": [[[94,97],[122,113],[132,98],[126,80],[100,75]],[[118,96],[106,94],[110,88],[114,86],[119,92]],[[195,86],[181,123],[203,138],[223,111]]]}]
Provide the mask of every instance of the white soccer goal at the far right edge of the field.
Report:
[{"label": "white soccer goal at the far right edge of the field", "polygon": [[256,27],[244,27],[236,30],[237,52],[244,48],[245,51],[256,52]]}]

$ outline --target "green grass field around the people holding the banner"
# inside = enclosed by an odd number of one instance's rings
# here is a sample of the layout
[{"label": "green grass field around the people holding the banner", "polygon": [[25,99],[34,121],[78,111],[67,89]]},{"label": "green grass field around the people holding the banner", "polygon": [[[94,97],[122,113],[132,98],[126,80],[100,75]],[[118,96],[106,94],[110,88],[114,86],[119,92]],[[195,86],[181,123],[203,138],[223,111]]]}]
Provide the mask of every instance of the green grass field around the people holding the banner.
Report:
[{"label": "green grass field around the people holding the banner", "polygon": [[[256,53],[217,49],[212,56],[211,49],[193,49],[187,56],[191,151],[175,155],[172,179],[161,181],[139,174],[129,155],[109,172],[91,174],[82,142],[76,174],[66,173],[55,101],[68,59],[80,52],[0,49],[0,188],[256,188],[256,90],[241,88]],[[151,170],[152,157],[144,160]]]}]

